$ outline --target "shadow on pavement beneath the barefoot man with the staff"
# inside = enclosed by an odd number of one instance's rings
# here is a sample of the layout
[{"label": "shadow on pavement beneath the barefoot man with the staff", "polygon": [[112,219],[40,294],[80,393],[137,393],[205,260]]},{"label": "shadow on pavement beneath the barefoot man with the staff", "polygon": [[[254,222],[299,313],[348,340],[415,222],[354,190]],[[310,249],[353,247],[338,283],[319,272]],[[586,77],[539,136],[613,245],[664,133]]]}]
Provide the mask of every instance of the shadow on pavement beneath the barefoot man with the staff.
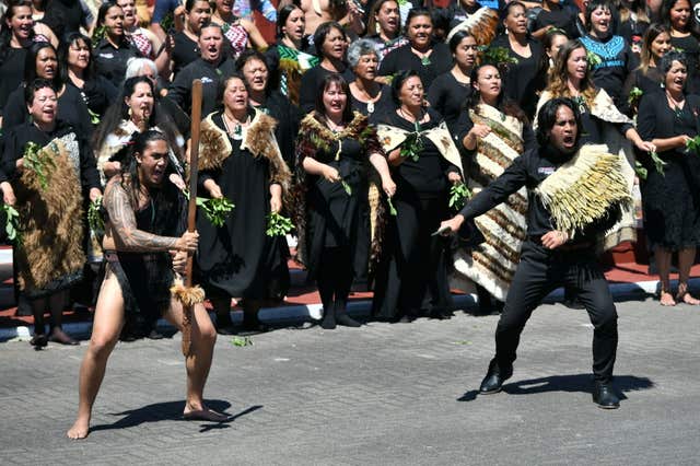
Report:
[{"label": "shadow on pavement beneath the barefoot man with the staff", "polygon": [[[206,400],[207,406],[215,411],[226,413],[225,410],[231,407],[229,401],[224,401],[221,399],[211,399]],[[166,401],[166,403],[156,403],[153,405],[147,405],[142,408],[124,411],[124,412],[112,412],[112,416],[126,416],[118,421],[110,424],[100,424],[90,428],[90,432],[96,432],[101,430],[113,430],[113,429],[126,429],[136,426],[140,426],[144,422],[159,422],[159,421],[179,421],[185,420],[183,418],[183,409],[185,408],[185,403],[179,401]],[[229,428],[230,423],[238,419],[240,417],[249,415],[250,412],[257,411],[262,408],[262,405],[255,405],[249,408],[244,409],[241,412],[229,416],[225,421],[213,422],[213,421],[188,421],[188,422],[200,422],[201,429],[199,432],[206,432],[212,429],[225,429]]]}]

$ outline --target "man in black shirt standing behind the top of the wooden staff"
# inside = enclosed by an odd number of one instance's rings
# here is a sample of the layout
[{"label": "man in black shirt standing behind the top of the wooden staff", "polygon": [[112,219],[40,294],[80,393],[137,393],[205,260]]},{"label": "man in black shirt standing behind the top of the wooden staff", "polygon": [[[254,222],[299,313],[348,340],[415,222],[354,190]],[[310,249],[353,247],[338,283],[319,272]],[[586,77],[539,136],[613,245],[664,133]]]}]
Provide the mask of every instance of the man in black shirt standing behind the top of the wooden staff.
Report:
[{"label": "man in black shirt standing behind the top of the wooden staff", "polygon": [[223,33],[221,26],[209,23],[199,31],[200,58],[177,73],[167,97],[189,115],[191,106],[192,81],[202,82],[202,117],[217,108],[219,83],[234,73],[235,63],[222,54]]}]

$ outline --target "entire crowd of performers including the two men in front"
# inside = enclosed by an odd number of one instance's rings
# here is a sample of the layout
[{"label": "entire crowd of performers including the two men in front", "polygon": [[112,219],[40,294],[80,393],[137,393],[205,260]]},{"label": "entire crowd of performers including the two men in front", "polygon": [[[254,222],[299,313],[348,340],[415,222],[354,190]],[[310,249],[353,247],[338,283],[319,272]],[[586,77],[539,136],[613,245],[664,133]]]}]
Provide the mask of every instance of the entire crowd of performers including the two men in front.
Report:
[{"label": "entire crowd of performers including the two men in front", "polygon": [[[0,187],[32,345],[77,343],[61,313],[96,303],[72,438],[88,434],[119,335],[153,333],[161,316],[191,338],[186,417],[219,419],[201,398],[215,335],[237,331],[232,300],[244,329],[265,329],[258,310],[290,287],[288,233],[325,329],[361,325],[353,287],[374,292],[373,318],[397,323],[448,318],[451,279],[476,283],[481,311],[502,311],[481,393],[511,376],[527,318],[563,286],[595,328],[594,401],[618,406],[617,315],[596,257],[637,240],[637,184],[661,304],[700,304],[688,0],[284,3],[269,47],[228,0],[187,0],[166,34],[139,25],[133,0],[102,2],[94,24],[59,0],[66,21],[48,7],[36,20],[34,3],[11,0],[2,19]],[[214,324],[172,295],[188,255]]]}]

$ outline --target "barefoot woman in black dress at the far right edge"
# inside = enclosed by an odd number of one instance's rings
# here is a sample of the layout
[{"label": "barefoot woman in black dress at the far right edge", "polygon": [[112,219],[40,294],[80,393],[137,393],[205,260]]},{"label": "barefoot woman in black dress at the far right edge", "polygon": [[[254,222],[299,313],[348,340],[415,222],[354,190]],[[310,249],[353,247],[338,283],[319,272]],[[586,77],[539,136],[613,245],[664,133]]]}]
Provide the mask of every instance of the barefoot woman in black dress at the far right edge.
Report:
[{"label": "barefoot woman in black dress at the far right edge", "polygon": [[[686,149],[686,142],[698,136],[700,97],[684,91],[687,63],[682,53],[664,55],[658,66],[664,93],[642,96],[637,117],[640,135],[653,138],[658,156],[665,162],[663,173],[648,164],[648,177],[642,184],[644,228],[656,258],[660,301],[664,306],[677,302],[700,304],[688,292],[690,267],[700,244],[700,155]],[[675,298],[668,279],[674,252],[678,252]]]}]

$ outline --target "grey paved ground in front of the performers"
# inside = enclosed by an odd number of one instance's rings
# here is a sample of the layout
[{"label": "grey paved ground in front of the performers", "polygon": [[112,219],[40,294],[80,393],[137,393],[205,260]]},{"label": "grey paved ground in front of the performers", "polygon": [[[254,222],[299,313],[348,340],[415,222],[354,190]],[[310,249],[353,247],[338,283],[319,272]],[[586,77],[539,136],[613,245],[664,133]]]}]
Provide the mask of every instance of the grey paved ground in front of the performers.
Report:
[{"label": "grey paved ground in front of the performers", "polygon": [[179,336],[119,343],[80,442],[63,434],[85,343],[4,342],[0,464],[698,464],[700,310],[618,310],[617,411],[591,401],[585,312],[548,304],[491,396],[475,388],[497,316],[221,337],[207,395],[224,424],[179,419]]}]

